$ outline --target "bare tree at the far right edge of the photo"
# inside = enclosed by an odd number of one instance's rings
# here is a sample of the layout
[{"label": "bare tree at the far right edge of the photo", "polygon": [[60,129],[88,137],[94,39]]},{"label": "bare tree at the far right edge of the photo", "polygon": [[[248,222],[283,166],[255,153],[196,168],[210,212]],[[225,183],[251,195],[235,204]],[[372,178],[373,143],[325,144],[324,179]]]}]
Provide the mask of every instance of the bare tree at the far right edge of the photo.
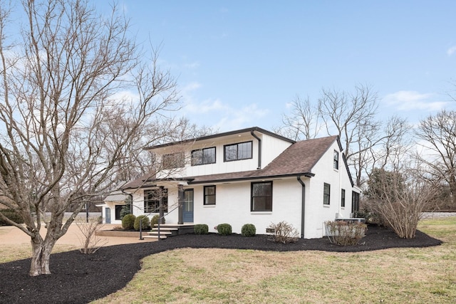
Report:
[{"label": "bare tree at the far right edge of the photo", "polygon": [[421,120],[416,135],[425,148],[418,159],[435,182],[450,188],[456,206],[456,112],[442,110]]}]

